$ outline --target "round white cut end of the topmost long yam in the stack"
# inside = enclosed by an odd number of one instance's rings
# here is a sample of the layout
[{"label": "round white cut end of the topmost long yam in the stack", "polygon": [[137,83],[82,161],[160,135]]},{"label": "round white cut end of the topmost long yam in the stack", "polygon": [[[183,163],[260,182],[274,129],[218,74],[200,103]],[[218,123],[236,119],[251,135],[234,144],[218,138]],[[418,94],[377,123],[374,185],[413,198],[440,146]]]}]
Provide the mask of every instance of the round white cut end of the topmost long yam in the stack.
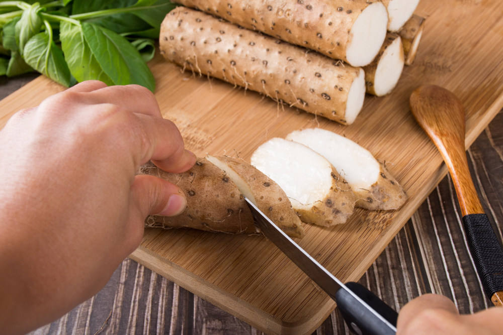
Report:
[{"label": "round white cut end of the topmost long yam in the stack", "polygon": [[386,37],[387,25],[388,12],[382,3],[367,6],[351,27],[346,61],[352,66],[370,64]]}]

